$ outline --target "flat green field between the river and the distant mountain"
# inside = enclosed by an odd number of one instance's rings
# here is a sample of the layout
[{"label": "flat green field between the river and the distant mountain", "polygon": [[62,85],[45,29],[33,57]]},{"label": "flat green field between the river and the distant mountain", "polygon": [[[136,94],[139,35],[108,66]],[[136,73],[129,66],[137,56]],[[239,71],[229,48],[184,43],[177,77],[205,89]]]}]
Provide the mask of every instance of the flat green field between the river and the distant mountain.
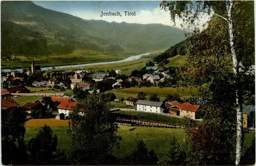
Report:
[{"label": "flat green field between the river and the distant mountain", "polygon": [[[95,50],[75,50],[71,54],[64,55],[45,55],[33,57],[35,65],[44,66],[60,66],[60,65],[72,65],[83,63],[96,63],[104,61],[116,61],[122,60],[132,55],[138,55],[137,53],[123,53],[123,52],[105,52]],[[30,67],[31,58],[28,56],[16,56],[20,60],[2,61],[2,68],[8,67]]]}]

